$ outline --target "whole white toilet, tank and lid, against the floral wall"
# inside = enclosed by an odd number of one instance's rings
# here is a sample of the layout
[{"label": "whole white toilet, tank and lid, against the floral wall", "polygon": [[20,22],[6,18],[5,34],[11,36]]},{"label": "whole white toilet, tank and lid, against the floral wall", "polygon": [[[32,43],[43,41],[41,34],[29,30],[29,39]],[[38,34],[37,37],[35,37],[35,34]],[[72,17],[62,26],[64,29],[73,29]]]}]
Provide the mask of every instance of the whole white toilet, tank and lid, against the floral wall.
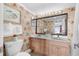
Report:
[{"label": "whole white toilet, tank and lid, against the floral wall", "polygon": [[21,52],[23,46],[23,40],[12,40],[5,42],[5,50],[7,56],[31,56],[28,52]]}]

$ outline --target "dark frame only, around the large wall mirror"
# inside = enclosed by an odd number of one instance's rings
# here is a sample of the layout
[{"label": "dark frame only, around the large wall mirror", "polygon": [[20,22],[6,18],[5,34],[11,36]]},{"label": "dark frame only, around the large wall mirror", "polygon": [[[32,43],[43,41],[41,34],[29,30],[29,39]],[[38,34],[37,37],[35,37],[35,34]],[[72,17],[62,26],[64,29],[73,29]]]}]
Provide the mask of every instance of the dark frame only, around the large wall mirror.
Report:
[{"label": "dark frame only, around the large wall mirror", "polygon": [[[53,15],[53,16],[46,16],[46,17],[41,17],[41,18],[36,18],[36,19],[33,19],[33,20],[36,20],[36,29],[35,29],[35,33],[36,34],[46,34],[46,33],[38,33],[37,32],[37,21],[39,19],[44,19],[44,18],[50,18],[50,17],[57,17],[57,16],[62,16],[62,15],[66,15],[66,18],[65,18],[65,33],[64,34],[61,34],[61,33],[57,33],[57,34],[51,34],[51,35],[67,35],[67,29],[68,29],[68,13],[63,13],[63,14],[58,14],[58,15]],[[50,34],[50,33],[49,33]]]}]

